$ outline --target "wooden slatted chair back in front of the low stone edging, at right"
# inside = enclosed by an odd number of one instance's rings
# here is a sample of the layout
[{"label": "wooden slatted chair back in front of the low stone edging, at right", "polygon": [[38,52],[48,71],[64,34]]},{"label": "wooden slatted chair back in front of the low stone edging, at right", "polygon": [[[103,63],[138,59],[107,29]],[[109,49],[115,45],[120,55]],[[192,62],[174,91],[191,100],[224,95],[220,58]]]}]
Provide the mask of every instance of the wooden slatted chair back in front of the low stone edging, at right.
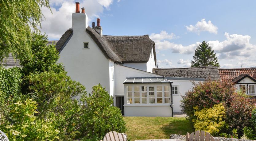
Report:
[{"label": "wooden slatted chair back in front of the low stone edging, at right", "polygon": [[[194,139],[194,135],[195,135],[195,139]],[[199,137],[200,135],[200,137]],[[204,135],[205,135],[205,138],[204,138]],[[219,141],[219,139],[214,139],[214,137],[208,133],[208,132],[205,132],[205,131],[196,131],[189,134],[187,133],[187,136],[186,136],[186,141]]]}]

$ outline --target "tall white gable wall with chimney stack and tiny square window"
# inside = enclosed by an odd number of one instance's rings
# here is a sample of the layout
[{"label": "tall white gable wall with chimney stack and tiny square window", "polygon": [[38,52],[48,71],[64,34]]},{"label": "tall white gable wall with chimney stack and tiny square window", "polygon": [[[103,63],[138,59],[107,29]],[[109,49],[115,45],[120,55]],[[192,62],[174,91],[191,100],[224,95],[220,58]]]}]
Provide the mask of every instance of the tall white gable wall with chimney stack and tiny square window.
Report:
[{"label": "tall white gable wall with chimney stack and tiny square window", "polygon": [[[88,93],[91,92],[92,86],[99,83],[110,92],[110,62],[87,34],[85,22],[80,19],[85,17],[81,14],[84,13],[72,14],[72,25],[81,27],[72,27],[74,34],[60,52],[58,62],[63,63],[68,76],[84,85]],[[74,24],[74,20],[78,23]],[[89,48],[83,49],[83,42],[89,42]]]}]

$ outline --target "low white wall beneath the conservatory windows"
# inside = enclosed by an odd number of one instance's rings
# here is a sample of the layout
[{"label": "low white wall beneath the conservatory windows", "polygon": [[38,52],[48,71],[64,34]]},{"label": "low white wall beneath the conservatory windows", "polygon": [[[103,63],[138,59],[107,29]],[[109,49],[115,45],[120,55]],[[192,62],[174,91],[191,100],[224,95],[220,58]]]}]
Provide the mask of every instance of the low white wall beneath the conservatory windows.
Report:
[{"label": "low white wall beneath the conservatory windows", "polygon": [[169,105],[125,105],[125,116],[172,116],[172,109]]}]

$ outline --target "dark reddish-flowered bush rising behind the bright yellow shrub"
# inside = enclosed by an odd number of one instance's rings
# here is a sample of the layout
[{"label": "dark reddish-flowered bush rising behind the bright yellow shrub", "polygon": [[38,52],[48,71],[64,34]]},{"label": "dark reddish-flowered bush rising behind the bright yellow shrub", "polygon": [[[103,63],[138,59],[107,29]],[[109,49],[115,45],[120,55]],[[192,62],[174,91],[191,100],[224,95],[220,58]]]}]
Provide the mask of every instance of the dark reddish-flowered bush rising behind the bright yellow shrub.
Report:
[{"label": "dark reddish-flowered bush rising behind the bright yellow shrub", "polygon": [[[188,119],[194,119],[194,108],[202,110],[213,105],[231,101],[231,95],[235,93],[235,87],[231,83],[221,81],[193,82],[192,90],[182,96],[181,110],[186,113]],[[225,105],[225,104],[224,104]]]}]

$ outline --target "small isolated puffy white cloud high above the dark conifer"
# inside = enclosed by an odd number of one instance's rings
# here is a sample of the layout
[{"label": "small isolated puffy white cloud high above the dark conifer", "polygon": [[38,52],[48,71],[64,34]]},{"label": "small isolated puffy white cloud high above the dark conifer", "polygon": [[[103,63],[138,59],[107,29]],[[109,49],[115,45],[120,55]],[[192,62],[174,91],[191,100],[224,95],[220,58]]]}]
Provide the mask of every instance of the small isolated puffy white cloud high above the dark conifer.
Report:
[{"label": "small isolated puffy white cloud high above the dark conifer", "polygon": [[187,30],[189,32],[195,32],[198,35],[202,31],[208,31],[210,33],[217,34],[218,33],[218,28],[216,25],[213,25],[211,21],[206,22],[205,19],[202,19],[201,21],[198,21],[196,25],[189,25],[186,26]]}]

